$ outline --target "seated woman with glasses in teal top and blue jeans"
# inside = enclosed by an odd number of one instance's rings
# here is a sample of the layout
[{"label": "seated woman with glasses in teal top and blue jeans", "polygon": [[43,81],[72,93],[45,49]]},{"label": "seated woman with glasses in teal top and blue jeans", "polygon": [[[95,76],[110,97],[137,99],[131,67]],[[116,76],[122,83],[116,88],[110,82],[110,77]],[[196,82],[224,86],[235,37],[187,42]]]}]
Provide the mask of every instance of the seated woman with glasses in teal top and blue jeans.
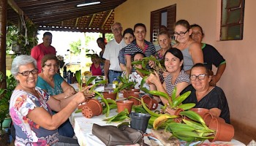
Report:
[{"label": "seated woman with glasses in teal top and blue jeans", "polygon": [[[56,55],[45,55],[42,58],[41,66],[42,72],[38,74],[37,87],[42,88],[57,100],[72,96],[75,93],[74,88],[57,73],[59,60]],[[75,134],[69,119],[59,126],[58,132],[64,137],[73,137]]]}]

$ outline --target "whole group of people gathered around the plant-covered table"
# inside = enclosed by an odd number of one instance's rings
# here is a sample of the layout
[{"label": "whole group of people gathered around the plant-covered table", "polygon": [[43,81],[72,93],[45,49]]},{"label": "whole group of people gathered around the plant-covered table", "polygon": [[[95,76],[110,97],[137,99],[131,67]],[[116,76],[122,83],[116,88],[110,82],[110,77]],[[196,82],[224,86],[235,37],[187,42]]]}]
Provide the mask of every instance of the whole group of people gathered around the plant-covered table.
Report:
[{"label": "whole group of people gathered around the plant-covered table", "polygon": [[[132,61],[140,61],[146,56],[155,56],[164,60],[165,71],[162,74],[150,74],[146,80],[148,90],[168,93],[170,96],[176,87],[176,96],[192,91],[184,103],[195,103],[195,107],[209,109],[212,115],[224,118],[230,123],[229,109],[225,93],[216,86],[225,71],[225,59],[211,45],[202,43],[203,29],[198,25],[190,26],[187,20],[178,20],[174,28],[176,44],[167,31],[160,31],[156,50],[151,42],[146,41],[146,26],[135,24],[124,30],[121,23],[113,23],[114,39],[105,45],[104,39],[97,39],[102,48],[99,55],[92,56],[94,68],[99,73],[98,58],[104,59],[106,80],[112,82],[123,72],[129,80],[141,82],[145,74],[135,70]],[[51,44],[52,34],[43,35],[42,44],[31,50],[30,55],[18,55],[12,62],[12,75],[18,82],[10,100],[10,115],[15,127],[15,145],[78,145],[73,139],[74,131],[69,122],[69,115],[86,99],[94,96],[89,87],[75,92],[58,74],[59,61],[56,50]],[[218,67],[217,74],[211,72],[211,66]],[[146,69],[155,66],[148,61]],[[123,74],[124,75],[124,74]],[[162,80],[163,79],[163,80]],[[139,87],[140,83],[135,86]],[[162,97],[154,97],[166,104]]]}]

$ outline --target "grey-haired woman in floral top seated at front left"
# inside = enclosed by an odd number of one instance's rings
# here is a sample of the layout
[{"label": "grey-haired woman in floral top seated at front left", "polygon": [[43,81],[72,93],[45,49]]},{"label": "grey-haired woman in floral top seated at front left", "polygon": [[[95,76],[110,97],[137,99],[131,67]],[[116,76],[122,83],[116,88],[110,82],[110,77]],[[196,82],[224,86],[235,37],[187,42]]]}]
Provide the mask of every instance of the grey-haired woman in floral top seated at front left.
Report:
[{"label": "grey-haired woman in floral top seated at front left", "polygon": [[[57,100],[37,84],[37,61],[18,55],[12,61],[12,75],[18,85],[10,99],[10,115],[15,126],[15,145],[78,145],[76,139],[59,136],[57,129],[86,99],[94,96],[88,88],[66,99]],[[57,111],[53,115],[52,110]],[[64,141],[65,142],[64,142]]]}]

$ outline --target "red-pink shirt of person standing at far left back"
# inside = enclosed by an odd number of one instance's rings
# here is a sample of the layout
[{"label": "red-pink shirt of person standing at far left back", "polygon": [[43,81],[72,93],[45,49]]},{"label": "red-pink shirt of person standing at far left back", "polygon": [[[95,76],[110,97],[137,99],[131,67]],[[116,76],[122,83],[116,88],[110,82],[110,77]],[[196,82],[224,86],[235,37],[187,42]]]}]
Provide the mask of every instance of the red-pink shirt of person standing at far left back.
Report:
[{"label": "red-pink shirt of person standing at far left back", "polygon": [[56,55],[56,50],[53,46],[45,47],[42,43],[34,46],[31,49],[31,56],[37,61],[37,69],[39,72],[42,70],[41,61],[44,55],[53,54]]}]

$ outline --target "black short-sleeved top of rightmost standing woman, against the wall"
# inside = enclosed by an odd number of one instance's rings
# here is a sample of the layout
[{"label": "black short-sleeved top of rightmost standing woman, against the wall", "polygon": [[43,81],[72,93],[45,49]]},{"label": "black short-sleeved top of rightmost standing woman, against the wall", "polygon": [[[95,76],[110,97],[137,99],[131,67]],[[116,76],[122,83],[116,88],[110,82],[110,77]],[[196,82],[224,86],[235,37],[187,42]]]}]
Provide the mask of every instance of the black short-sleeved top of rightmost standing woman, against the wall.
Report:
[{"label": "black short-sleeved top of rightmost standing woman, against the wall", "polygon": [[202,47],[203,50],[203,62],[206,64],[208,69],[212,69],[212,64],[214,66],[218,67],[221,64],[225,64],[225,58],[220,55],[218,50],[215,49],[215,47],[208,45],[208,44],[203,44]]}]

